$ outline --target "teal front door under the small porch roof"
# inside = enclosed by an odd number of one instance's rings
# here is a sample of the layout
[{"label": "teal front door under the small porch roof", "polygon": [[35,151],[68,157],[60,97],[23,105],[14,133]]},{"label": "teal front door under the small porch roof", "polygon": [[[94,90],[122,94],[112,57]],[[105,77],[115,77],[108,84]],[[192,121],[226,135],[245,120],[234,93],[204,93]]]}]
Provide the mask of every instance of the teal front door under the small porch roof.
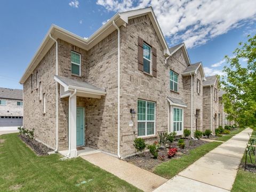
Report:
[{"label": "teal front door under the small porch roof", "polygon": [[76,145],[84,145],[84,108],[76,108]]}]

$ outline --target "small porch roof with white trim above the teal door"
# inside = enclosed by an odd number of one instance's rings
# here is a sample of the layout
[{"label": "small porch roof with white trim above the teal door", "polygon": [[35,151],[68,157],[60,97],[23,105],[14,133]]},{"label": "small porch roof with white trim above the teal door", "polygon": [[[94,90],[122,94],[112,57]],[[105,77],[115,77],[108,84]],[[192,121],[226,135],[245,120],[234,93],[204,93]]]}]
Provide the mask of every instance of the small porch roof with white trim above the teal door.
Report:
[{"label": "small porch roof with white trim above the teal door", "polygon": [[106,90],[94,86],[87,82],[77,81],[68,77],[54,75],[54,80],[61,84],[65,91],[86,92],[91,94],[106,95]]}]

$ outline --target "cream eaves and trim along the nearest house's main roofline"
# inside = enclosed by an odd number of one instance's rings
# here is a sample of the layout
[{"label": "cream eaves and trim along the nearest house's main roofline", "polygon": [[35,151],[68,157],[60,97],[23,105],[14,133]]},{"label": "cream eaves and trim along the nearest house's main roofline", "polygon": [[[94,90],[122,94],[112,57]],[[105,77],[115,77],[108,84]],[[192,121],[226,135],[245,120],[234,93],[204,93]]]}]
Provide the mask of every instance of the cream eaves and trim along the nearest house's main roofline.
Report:
[{"label": "cream eaves and trim along the nearest house's main roofline", "polygon": [[170,55],[169,47],[166,43],[164,38],[163,32],[159,26],[159,23],[156,19],[156,15],[152,9],[152,7],[147,7],[144,9],[126,11],[122,13],[116,13],[108,22],[105,23],[102,27],[100,27],[94,34],[92,34],[88,39],[82,38],[78,35],[75,35],[61,27],[52,25],[49,31],[47,32],[46,36],[43,39],[43,42],[39,46],[36,54],[34,55],[33,59],[30,61],[25,73],[22,75],[20,79],[20,83],[23,84],[29,77],[31,73],[33,73],[34,69],[38,65],[38,63],[43,59],[44,55],[47,51],[50,50],[52,45],[55,43],[51,38],[50,34],[54,39],[63,39],[64,41],[81,47],[84,50],[90,50],[94,45],[99,43],[103,38],[107,37],[110,33],[116,30],[113,22],[120,27],[126,26],[129,19],[140,17],[142,15],[149,15],[149,18],[152,22],[156,30],[156,34],[160,39],[162,46],[164,47],[164,54]]}]

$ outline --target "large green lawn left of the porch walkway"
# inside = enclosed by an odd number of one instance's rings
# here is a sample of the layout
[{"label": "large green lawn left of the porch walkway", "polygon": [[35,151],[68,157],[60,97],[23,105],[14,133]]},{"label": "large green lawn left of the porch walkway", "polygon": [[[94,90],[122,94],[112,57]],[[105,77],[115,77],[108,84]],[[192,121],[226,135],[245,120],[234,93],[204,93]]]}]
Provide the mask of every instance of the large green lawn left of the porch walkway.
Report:
[{"label": "large green lawn left of the porch walkway", "polygon": [[35,155],[16,133],[0,135],[0,191],[139,191],[80,157],[60,158]]}]

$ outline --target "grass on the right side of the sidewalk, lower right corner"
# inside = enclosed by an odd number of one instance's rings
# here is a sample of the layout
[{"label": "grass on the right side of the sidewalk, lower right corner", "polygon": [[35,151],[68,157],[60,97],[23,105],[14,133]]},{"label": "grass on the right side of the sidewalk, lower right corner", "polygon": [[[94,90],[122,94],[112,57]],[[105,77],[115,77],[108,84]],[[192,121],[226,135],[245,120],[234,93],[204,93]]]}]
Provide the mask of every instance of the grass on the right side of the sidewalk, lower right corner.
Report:
[{"label": "grass on the right side of the sidewalk, lower right corner", "polygon": [[[253,131],[252,137],[256,137],[256,131]],[[242,162],[245,162],[245,156],[246,153],[244,153],[244,156],[242,158]],[[251,155],[253,164],[255,163],[255,155]],[[247,155],[247,162],[250,162],[250,157]],[[236,179],[233,185],[233,188],[231,189],[232,192],[247,192],[247,191],[253,191],[256,189],[256,173],[252,173],[249,171],[244,171],[242,167],[239,167],[239,170],[236,175]]]}]

